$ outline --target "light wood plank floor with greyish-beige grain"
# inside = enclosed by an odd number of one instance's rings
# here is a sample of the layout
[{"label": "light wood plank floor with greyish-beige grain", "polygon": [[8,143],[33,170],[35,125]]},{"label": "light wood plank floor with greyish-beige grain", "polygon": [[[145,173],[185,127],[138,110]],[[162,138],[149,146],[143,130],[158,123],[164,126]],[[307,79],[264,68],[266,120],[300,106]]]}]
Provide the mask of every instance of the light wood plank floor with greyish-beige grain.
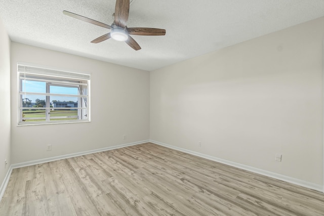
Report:
[{"label": "light wood plank floor with greyish-beige grain", "polygon": [[0,215],[324,215],[324,194],[146,143],[13,170]]}]

